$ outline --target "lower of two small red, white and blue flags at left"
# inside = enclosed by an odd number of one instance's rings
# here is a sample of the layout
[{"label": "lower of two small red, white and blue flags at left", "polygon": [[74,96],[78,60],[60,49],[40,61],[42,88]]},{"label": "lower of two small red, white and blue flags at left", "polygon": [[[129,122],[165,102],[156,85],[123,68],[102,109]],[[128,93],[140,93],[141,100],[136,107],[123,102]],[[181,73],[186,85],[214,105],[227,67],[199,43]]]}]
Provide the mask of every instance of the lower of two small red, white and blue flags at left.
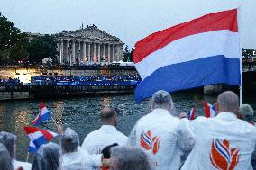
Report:
[{"label": "lower of two small red, white and blue flags at left", "polygon": [[23,129],[31,139],[29,152],[36,152],[42,144],[45,144],[47,141],[50,141],[58,135],[57,133],[49,130],[41,130],[39,128],[29,126],[25,126]]}]

